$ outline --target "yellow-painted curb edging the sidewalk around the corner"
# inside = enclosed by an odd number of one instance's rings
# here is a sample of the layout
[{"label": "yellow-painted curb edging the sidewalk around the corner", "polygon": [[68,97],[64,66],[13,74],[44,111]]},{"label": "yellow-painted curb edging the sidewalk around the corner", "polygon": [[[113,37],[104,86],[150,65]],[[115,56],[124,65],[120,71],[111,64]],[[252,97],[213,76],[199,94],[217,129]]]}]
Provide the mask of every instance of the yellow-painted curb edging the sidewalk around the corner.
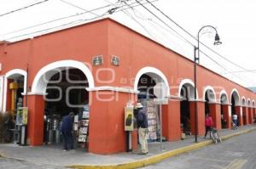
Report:
[{"label": "yellow-painted curb edging the sidewalk around the corner", "polygon": [[[253,130],[256,130],[256,127],[253,127],[253,128],[241,131],[241,132],[235,132],[235,133],[232,133],[232,134],[229,134],[229,135],[225,135],[225,136],[222,136],[220,138],[224,141],[224,140],[227,140],[229,138],[233,138],[235,136],[239,136],[239,135],[247,133],[247,132],[252,132]],[[99,166],[99,165],[72,165],[72,166],[67,166],[67,167],[69,167],[69,168],[78,168],[78,169],[138,168],[138,167],[143,167],[143,166],[149,166],[149,165],[152,165],[154,163],[164,161],[167,158],[170,158],[172,156],[182,155],[184,153],[187,153],[187,152],[195,150],[195,149],[201,149],[202,147],[205,147],[209,144],[213,144],[212,140],[207,140],[207,141],[197,143],[197,144],[191,144],[191,145],[185,146],[183,148],[173,149],[171,151],[162,153],[160,155],[154,155],[154,156],[151,156],[151,157],[144,158],[142,160],[132,161],[132,162],[128,162],[128,163],[102,165],[102,166]]]}]

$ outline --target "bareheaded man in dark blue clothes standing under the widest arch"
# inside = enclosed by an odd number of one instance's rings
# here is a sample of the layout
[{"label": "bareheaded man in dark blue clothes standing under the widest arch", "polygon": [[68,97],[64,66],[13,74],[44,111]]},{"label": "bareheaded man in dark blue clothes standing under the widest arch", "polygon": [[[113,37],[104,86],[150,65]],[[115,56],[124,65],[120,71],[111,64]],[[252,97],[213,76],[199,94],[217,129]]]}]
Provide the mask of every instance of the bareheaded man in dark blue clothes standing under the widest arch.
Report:
[{"label": "bareheaded man in dark blue clothes standing under the widest arch", "polygon": [[74,113],[70,112],[69,115],[65,115],[61,121],[63,151],[73,149],[73,116]]}]

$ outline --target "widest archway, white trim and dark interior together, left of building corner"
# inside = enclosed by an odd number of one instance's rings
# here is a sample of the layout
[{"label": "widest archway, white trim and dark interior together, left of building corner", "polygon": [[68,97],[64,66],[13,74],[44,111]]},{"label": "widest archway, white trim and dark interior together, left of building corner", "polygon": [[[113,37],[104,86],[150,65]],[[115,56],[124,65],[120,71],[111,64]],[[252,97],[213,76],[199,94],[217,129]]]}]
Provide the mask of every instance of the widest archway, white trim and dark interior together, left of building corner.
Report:
[{"label": "widest archway, white trim and dark interior together, left of building corner", "polygon": [[[38,127],[42,131],[44,143],[61,142],[60,122],[61,117],[73,112],[78,121],[89,121],[90,97],[87,87],[94,87],[93,76],[84,63],[75,60],[61,60],[45,65],[35,76],[32,83],[32,91],[29,94],[43,95],[43,109],[36,112],[40,122],[44,125]],[[32,118],[37,118],[33,114]],[[82,120],[81,120],[82,117]],[[84,119],[84,118],[87,119]],[[42,120],[42,121],[41,121]],[[76,120],[76,121],[77,121]],[[82,122],[81,124],[84,124]],[[83,125],[81,127],[84,127]],[[76,127],[77,131],[80,128]],[[87,128],[88,131],[88,128]],[[84,142],[82,134],[78,140]]]}]

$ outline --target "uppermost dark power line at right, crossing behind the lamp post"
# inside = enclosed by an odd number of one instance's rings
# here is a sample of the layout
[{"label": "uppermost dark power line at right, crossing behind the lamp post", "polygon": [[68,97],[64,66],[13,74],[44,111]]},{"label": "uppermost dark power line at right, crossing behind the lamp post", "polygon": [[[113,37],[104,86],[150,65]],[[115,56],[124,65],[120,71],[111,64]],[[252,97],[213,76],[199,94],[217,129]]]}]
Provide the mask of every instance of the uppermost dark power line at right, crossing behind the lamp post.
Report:
[{"label": "uppermost dark power line at right, crossing behind the lamp post", "polygon": [[[157,9],[161,14],[163,14],[164,16],[166,16],[166,18],[168,20],[171,20],[172,23],[174,23],[175,25],[177,25],[177,27],[179,27],[180,29],[182,29],[183,31],[185,31],[187,34],[189,34],[190,37],[193,37],[196,41],[197,41],[197,38],[194,37],[191,33],[189,33],[189,31],[185,30],[181,25],[178,25],[177,22],[175,22],[174,20],[172,20],[168,15],[166,15],[164,12],[162,12],[160,10],[160,8],[157,8],[153,3],[150,3],[148,0],[146,0],[151,6],[153,6],[155,9]],[[233,62],[232,60],[230,59],[227,59],[225,58],[223,55],[221,54],[218,54],[215,50],[213,50],[212,48],[208,47],[206,44],[204,44],[203,42],[200,42],[204,47],[206,47],[207,49],[211,50],[214,54],[217,54],[219,57],[221,57],[222,59],[225,59],[226,61],[230,62],[231,64],[233,65],[236,65],[237,67],[241,68],[242,70],[247,70],[243,67],[241,67],[241,65],[237,65],[235,62]]]}]

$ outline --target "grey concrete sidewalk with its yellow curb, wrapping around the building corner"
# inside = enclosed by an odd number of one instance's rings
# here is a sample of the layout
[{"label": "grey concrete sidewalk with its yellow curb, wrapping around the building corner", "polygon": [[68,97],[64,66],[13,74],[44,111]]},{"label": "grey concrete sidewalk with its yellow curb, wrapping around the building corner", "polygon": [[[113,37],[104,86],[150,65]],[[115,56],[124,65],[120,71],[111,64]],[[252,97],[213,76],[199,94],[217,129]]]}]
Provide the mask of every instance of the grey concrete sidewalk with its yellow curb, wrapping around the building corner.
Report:
[{"label": "grey concrete sidewalk with its yellow curb, wrapping around the building corner", "polygon": [[[256,130],[256,126],[248,125],[237,130],[224,129],[219,132],[222,139]],[[19,146],[17,144],[0,144],[0,155],[20,161],[52,166],[72,168],[137,168],[165,160],[173,155],[180,155],[193,149],[200,149],[212,141],[202,137],[194,143],[194,136],[176,142],[150,143],[148,155],[137,155],[136,152],[115,155],[94,155],[85,153],[84,149],[63,152],[60,146]]]}]

